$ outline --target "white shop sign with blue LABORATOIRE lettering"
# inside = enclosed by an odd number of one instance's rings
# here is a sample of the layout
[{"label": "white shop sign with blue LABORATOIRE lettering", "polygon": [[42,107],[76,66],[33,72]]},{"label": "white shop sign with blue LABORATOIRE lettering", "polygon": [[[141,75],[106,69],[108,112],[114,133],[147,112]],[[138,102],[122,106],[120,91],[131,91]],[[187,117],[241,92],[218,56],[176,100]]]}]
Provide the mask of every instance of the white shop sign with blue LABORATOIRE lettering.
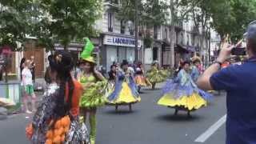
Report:
[{"label": "white shop sign with blue LABORATOIRE lettering", "polygon": [[[103,44],[104,45],[112,45],[112,46],[135,47],[135,39],[105,35]],[[139,40],[138,40],[138,47],[141,47],[141,41],[139,41]]]}]

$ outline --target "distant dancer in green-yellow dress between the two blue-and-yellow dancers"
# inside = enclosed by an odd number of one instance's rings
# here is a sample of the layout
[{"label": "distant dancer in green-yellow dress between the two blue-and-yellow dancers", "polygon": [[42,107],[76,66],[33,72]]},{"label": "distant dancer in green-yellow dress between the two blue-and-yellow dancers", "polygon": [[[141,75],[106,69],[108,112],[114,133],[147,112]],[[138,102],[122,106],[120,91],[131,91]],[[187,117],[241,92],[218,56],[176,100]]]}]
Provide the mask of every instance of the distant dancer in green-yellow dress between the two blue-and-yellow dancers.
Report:
[{"label": "distant dancer in green-yellow dress between the two blue-and-yellow dancers", "polygon": [[164,82],[166,79],[166,74],[163,70],[159,70],[158,61],[154,61],[151,66],[151,70],[147,71],[146,78],[149,79],[152,90],[155,89],[155,85],[159,82]]}]

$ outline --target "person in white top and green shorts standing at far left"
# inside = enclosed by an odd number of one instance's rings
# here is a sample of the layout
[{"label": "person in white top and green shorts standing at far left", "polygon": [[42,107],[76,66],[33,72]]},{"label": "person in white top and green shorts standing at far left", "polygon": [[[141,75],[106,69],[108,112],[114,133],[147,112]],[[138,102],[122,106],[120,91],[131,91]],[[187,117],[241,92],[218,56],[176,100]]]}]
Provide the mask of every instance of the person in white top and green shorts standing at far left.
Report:
[{"label": "person in white top and green shorts standing at far left", "polygon": [[22,70],[22,98],[24,103],[24,108],[26,109],[27,114],[31,114],[32,112],[28,108],[28,102],[31,101],[32,111],[35,109],[35,101],[36,96],[34,94],[34,87],[32,81],[32,74],[30,71],[30,60],[26,60],[24,62],[24,68]]}]

